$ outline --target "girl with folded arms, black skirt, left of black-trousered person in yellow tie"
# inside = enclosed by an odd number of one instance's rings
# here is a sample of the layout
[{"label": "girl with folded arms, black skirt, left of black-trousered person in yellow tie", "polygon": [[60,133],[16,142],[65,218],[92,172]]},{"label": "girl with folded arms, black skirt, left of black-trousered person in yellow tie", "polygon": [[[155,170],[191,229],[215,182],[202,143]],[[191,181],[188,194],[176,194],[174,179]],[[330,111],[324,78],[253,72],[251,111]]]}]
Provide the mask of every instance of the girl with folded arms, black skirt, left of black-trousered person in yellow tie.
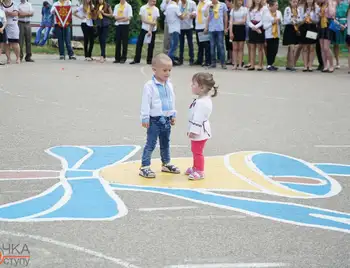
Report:
[{"label": "girl with folded arms, black skirt, left of black-trousered person in yellow tie", "polygon": [[259,52],[258,71],[263,70],[265,34],[262,27],[264,8],[261,0],[254,0],[247,16],[249,26],[249,43],[250,43],[250,67],[249,71],[255,70],[256,48]]}]

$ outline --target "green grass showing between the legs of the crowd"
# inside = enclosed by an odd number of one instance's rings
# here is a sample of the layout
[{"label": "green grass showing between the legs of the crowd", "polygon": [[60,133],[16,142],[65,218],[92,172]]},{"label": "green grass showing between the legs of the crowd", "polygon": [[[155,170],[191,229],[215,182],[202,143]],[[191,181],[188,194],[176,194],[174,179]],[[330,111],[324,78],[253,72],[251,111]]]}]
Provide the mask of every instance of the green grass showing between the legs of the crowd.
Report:
[{"label": "green grass showing between the legs of the crowd", "polygon": [[[156,37],[156,44],[155,44],[155,48],[154,48],[154,54],[160,53],[163,51],[163,35],[162,34],[158,34]],[[195,40],[195,38],[194,38]],[[81,41],[82,42],[82,41]],[[135,55],[135,49],[136,49],[136,45],[128,45],[128,59],[132,60],[134,58]],[[345,52],[346,51],[346,46],[341,46],[341,52],[340,52],[340,57],[347,57],[348,53]],[[197,53],[197,46],[195,45],[195,55]],[[48,42],[47,45],[43,46],[43,47],[39,47],[39,46],[32,46],[32,51],[33,54],[57,54],[58,55],[58,48],[52,47],[51,43]],[[247,48],[245,47],[245,52],[247,53]],[[74,50],[74,53],[77,56],[84,56],[84,51],[83,50]],[[114,53],[115,53],[115,44],[107,44],[106,46],[106,56],[107,57],[114,57]],[[99,57],[100,56],[100,45],[98,42],[95,42],[94,45],[94,50],[92,52],[93,57]],[[147,55],[147,45],[143,46],[142,49],[142,57],[145,59]],[[188,52],[187,49],[185,48],[185,53],[184,53],[184,58],[185,61],[188,61]],[[248,62],[248,55],[244,55],[244,62],[247,63]],[[315,64],[316,64],[317,60],[315,60]],[[264,57],[264,65],[266,65],[266,58]],[[275,60],[275,65],[276,66],[286,66],[286,57],[276,57]],[[303,62],[302,62],[302,57],[300,56],[299,61],[297,62],[297,67],[302,67],[304,66]]]}]

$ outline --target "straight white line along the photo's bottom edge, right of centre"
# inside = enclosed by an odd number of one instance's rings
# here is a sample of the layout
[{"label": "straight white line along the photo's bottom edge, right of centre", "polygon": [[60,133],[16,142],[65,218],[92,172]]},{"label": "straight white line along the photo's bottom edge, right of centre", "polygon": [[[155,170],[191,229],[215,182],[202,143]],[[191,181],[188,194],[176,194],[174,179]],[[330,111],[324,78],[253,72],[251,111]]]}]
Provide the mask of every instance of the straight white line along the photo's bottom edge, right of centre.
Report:
[{"label": "straight white line along the photo's bottom edge, right of centre", "polygon": [[286,267],[289,264],[278,262],[265,263],[218,263],[218,264],[184,264],[184,265],[170,265],[167,268],[255,268],[255,267]]}]

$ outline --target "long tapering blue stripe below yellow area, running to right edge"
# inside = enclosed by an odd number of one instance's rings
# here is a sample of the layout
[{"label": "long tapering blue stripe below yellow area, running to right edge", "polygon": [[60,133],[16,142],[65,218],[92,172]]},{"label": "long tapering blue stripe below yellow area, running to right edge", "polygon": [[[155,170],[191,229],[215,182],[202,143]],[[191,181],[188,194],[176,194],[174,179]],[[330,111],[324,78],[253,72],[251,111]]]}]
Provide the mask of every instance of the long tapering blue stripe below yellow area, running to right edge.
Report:
[{"label": "long tapering blue stripe below yellow area, running to right edge", "polygon": [[[116,188],[123,189],[143,189],[159,193],[172,194],[178,197],[189,198],[194,201],[202,201],[214,206],[222,206],[240,211],[255,213],[260,216],[270,217],[276,221],[289,221],[294,224],[314,225],[323,228],[338,228],[346,232],[350,232],[350,224],[340,222],[341,220],[350,220],[350,214],[337,211],[326,211],[321,208],[308,208],[297,204],[286,204],[282,202],[270,203],[263,200],[241,199],[233,196],[218,196],[210,192],[201,193],[193,190],[177,190],[177,189],[159,189],[152,187],[126,186],[120,184],[112,184]],[[338,218],[340,221],[331,219],[322,219],[314,217],[311,214],[320,214]]]}]

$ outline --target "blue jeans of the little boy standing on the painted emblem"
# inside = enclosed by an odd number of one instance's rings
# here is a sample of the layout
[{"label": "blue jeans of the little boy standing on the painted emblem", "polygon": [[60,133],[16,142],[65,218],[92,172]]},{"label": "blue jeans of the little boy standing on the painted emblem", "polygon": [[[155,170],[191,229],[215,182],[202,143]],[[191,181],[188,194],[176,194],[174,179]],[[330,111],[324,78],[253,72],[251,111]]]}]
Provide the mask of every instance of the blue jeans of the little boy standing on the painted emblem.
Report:
[{"label": "blue jeans of the little boy standing on the painted emblem", "polygon": [[142,154],[142,167],[151,165],[151,157],[159,137],[160,158],[163,164],[170,162],[170,117],[151,117],[147,129],[147,141]]}]

